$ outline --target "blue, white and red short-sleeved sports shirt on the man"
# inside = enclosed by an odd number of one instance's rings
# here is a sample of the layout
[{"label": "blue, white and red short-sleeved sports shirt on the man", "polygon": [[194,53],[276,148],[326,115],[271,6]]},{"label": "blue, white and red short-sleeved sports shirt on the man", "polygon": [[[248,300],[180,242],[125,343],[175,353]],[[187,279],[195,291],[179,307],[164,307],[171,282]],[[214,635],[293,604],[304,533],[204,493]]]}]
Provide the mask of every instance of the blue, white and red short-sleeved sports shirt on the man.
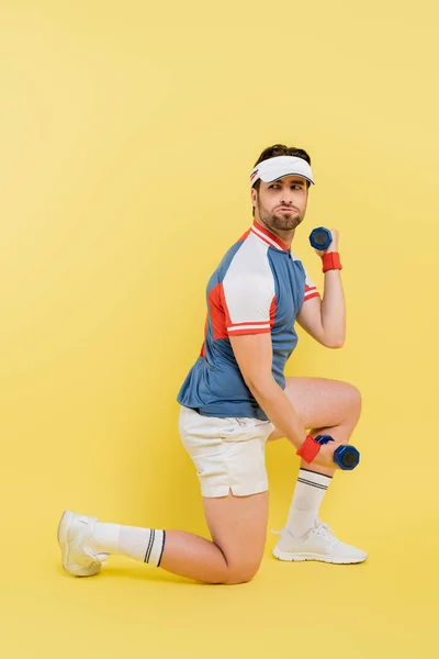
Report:
[{"label": "blue, white and red short-sleeved sports shirt on the man", "polygon": [[178,402],[205,416],[267,421],[244,381],[229,336],[270,333],[273,378],[284,389],[285,362],[297,345],[295,319],[304,301],[315,297],[319,293],[301,260],[255,221],[209,280],[204,343]]}]

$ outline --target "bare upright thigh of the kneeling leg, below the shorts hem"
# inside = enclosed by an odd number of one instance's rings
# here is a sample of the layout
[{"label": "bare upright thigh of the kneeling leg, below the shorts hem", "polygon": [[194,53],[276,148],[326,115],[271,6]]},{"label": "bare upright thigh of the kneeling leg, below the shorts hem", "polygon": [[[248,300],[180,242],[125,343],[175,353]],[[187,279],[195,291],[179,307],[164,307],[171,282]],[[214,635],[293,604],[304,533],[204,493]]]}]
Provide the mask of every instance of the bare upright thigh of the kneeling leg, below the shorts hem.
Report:
[{"label": "bare upright thigh of the kneeling leg, below the shorts hem", "polygon": [[268,492],[203,498],[212,539],[227,563],[227,583],[249,581],[258,571],[267,538]]}]

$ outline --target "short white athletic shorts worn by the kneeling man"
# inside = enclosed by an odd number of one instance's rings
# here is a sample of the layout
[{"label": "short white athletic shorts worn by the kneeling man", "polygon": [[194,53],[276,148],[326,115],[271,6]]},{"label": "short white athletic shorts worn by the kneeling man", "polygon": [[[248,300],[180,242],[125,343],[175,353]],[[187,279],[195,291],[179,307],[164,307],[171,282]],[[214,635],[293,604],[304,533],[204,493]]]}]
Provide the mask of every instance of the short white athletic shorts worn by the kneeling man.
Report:
[{"label": "short white athletic shorts worn by the kneeling man", "polygon": [[180,437],[196,467],[202,495],[266,492],[266,442],[273,429],[271,421],[202,416],[181,406]]}]

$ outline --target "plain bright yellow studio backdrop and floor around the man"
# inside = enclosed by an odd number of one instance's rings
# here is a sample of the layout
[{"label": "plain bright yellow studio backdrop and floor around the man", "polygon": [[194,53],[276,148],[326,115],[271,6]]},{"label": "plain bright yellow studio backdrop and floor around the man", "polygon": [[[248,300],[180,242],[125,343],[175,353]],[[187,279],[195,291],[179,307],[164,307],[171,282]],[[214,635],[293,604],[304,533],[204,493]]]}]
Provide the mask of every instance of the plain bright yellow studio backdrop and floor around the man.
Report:
[{"label": "plain bright yellow studio backdrop and floor around the man", "polygon": [[[432,1],[0,1],[1,655],[437,657],[437,20]],[[357,384],[360,468],[323,517],[362,566],[266,559],[204,587],[60,567],[65,507],[205,534],[177,434],[204,288],[277,142],[317,185],[293,250],[340,231],[348,338],[288,375]],[[268,448],[270,528],[297,461]]]}]

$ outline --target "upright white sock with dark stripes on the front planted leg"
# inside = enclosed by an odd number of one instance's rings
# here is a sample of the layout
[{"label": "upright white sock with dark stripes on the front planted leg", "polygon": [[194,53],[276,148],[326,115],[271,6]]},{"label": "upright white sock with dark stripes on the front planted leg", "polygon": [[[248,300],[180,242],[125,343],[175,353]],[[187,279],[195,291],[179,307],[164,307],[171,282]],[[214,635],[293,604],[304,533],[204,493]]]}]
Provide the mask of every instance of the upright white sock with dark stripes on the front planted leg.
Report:
[{"label": "upright white sock with dark stripes on the front planted leg", "polygon": [[331,481],[330,476],[300,469],[291,503],[286,528],[296,538],[314,527],[323,498]]}]

